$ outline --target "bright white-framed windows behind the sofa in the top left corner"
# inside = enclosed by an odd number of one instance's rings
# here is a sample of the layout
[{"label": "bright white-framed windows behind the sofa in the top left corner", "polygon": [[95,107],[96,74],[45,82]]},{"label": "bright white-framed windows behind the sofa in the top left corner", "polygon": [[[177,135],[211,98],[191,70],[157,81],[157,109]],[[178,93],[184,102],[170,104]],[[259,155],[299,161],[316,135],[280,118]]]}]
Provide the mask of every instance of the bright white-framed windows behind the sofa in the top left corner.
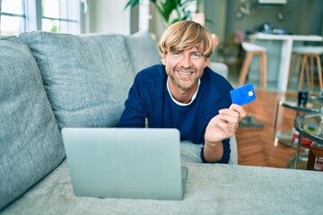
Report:
[{"label": "bright white-framed windows behind the sofa in the top left corner", "polygon": [[85,0],[0,0],[0,35],[45,30],[81,33]]}]

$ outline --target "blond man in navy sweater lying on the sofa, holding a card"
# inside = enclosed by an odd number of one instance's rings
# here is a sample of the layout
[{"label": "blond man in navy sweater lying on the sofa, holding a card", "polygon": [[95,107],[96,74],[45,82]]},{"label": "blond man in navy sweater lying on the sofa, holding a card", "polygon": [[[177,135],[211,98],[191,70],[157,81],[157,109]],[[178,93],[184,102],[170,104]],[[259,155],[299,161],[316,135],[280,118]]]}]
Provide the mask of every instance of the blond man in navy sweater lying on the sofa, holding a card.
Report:
[{"label": "blond man in navy sweater lying on the sofa, holding a card", "polygon": [[137,73],[118,127],[178,128],[181,141],[200,144],[203,162],[228,163],[230,137],[246,116],[231,104],[231,84],[206,66],[212,38],[197,22],[175,22],[159,43],[162,64]]}]

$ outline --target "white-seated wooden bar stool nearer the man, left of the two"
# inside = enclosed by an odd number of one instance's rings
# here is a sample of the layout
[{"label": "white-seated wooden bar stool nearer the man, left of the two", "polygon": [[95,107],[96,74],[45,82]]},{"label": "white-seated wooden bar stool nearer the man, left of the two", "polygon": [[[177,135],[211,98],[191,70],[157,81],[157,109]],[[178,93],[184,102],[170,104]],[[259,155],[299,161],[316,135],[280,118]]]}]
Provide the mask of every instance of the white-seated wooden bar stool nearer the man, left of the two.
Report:
[{"label": "white-seated wooden bar stool nearer the man, left of the two", "polygon": [[246,51],[246,56],[240,71],[239,85],[243,85],[246,81],[252,56],[259,56],[259,81],[262,86],[266,87],[266,48],[247,42],[242,42],[241,45],[242,48]]}]

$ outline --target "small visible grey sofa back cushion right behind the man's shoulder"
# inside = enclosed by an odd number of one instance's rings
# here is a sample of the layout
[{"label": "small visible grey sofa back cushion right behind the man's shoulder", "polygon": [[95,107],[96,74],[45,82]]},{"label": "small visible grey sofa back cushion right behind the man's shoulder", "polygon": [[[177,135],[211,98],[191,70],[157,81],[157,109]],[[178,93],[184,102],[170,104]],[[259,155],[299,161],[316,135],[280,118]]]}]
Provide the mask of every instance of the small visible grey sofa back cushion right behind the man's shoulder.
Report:
[{"label": "small visible grey sofa back cushion right behind the man's shoulder", "polygon": [[140,31],[126,38],[127,51],[135,73],[153,64],[161,64],[161,56],[149,32]]}]

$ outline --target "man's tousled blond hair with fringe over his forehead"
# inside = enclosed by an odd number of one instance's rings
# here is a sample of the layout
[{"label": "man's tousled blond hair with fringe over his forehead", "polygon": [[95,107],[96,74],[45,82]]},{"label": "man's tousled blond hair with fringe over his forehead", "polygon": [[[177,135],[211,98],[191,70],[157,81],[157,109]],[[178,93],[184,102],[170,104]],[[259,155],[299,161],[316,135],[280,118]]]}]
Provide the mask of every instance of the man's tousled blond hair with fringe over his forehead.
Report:
[{"label": "man's tousled blond hair with fringe over his forehead", "polygon": [[162,54],[197,47],[205,57],[212,54],[212,37],[209,30],[193,21],[175,22],[164,31],[159,42]]}]

